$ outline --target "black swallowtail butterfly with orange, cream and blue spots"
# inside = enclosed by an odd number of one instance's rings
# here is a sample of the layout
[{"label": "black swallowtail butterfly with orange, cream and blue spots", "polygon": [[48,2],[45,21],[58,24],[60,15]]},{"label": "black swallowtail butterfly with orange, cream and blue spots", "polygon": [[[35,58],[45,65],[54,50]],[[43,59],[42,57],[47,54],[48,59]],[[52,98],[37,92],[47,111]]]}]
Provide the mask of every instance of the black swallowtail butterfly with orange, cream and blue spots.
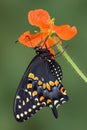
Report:
[{"label": "black swallowtail butterfly with orange, cream and blue spots", "polygon": [[54,56],[45,48],[36,47],[36,56],[28,65],[14,101],[14,116],[23,122],[43,107],[50,107],[55,118],[57,107],[68,101],[61,83],[62,69]]}]

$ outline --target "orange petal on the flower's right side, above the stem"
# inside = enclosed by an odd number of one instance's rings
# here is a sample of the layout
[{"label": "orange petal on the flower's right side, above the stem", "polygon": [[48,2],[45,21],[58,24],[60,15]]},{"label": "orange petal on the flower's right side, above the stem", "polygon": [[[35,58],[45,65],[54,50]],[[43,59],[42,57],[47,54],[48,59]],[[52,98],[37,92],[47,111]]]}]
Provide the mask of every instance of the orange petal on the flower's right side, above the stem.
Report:
[{"label": "orange petal on the flower's right side, above the stem", "polygon": [[63,40],[70,40],[77,34],[75,26],[70,27],[69,25],[61,25],[53,27],[57,35]]}]

